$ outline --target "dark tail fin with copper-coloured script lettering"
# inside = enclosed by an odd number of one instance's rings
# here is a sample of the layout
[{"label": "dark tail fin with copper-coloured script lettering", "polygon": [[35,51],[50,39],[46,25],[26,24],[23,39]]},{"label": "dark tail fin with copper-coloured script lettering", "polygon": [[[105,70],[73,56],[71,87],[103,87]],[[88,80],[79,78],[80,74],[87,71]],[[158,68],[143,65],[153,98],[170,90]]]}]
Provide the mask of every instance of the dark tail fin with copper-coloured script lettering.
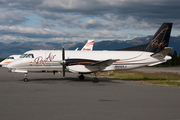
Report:
[{"label": "dark tail fin with copper-coloured script lettering", "polygon": [[156,53],[163,50],[164,47],[168,47],[171,28],[172,23],[163,23],[149,41],[145,51]]}]

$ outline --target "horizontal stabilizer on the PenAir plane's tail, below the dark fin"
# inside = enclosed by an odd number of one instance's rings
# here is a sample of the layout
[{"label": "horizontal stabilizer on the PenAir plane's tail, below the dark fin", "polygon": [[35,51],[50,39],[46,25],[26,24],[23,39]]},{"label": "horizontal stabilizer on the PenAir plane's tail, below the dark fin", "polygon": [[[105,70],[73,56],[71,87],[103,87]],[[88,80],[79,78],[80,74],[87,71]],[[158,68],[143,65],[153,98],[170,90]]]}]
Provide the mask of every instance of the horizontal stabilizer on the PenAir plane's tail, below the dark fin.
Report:
[{"label": "horizontal stabilizer on the PenAir plane's tail, below the dark fin", "polygon": [[171,50],[172,50],[171,47],[165,47],[160,52],[152,54],[151,57],[159,58],[159,59],[164,58],[167,54],[169,54],[171,52]]}]

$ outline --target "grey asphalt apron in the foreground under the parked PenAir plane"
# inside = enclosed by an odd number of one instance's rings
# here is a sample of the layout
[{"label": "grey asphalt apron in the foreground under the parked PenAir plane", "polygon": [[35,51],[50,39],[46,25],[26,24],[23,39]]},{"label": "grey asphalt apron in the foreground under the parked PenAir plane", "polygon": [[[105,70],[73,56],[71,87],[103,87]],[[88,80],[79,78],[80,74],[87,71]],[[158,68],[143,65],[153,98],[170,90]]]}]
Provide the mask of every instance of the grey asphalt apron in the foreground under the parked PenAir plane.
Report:
[{"label": "grey asphalt apron in the foreground under the parked PenAir plane", "polygon": [[0,68],[1,120],[180,120],[180,88]]}]

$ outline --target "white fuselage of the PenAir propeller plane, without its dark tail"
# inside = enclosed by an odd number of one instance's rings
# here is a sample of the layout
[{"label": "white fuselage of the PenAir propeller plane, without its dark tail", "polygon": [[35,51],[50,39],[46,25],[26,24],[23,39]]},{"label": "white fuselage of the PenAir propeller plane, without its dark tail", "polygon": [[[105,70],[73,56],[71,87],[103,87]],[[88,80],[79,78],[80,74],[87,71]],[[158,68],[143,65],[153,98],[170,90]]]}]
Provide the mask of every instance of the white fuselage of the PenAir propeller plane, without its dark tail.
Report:
[{"label": "white fuselage of the PenAir propeller plane, without its dark tail", "polygon": [[[59,63],[62,60],[61,50],[31,50],[24,54],[30,55],[30,57],[19,58],[7,66],[12,72],[62,70],[62,65]],[[164,59],[156,59],[150,56],[152,54],[145,51],[65,51],[65,59],[90,59],[96,61],[118,59],[118,61],[103,70],[96,66],[88,67],[84,65],[66,67],[69,71],[77,73],[134,69],[155,63],[163,63],[171,59],[170,56],[166,56]]]}]

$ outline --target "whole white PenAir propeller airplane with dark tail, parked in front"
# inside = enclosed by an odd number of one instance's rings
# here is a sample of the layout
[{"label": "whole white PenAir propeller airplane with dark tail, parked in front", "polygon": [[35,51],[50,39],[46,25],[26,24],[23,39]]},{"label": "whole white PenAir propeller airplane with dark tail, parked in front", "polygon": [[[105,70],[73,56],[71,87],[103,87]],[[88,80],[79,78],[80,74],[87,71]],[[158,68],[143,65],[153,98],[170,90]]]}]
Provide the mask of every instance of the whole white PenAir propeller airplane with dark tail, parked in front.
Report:
[{"label": "whole white PenAir propeller airplane with dark tail, parked in front", "polygon": [[53,72],[60,70],[65,77],[65,70],[78,73],[84,80],[84,74],[94,73],[92,82],[97,83],[99,71],[129,70],[143,66],[154,66],[170,60],[167,54],[173,23],[163,23],[151,38],[143,51],[68,51],[64,50],[31,50],[19,59],[8,64],[10,72],[24,73],[28,81],[28,72]]}]

